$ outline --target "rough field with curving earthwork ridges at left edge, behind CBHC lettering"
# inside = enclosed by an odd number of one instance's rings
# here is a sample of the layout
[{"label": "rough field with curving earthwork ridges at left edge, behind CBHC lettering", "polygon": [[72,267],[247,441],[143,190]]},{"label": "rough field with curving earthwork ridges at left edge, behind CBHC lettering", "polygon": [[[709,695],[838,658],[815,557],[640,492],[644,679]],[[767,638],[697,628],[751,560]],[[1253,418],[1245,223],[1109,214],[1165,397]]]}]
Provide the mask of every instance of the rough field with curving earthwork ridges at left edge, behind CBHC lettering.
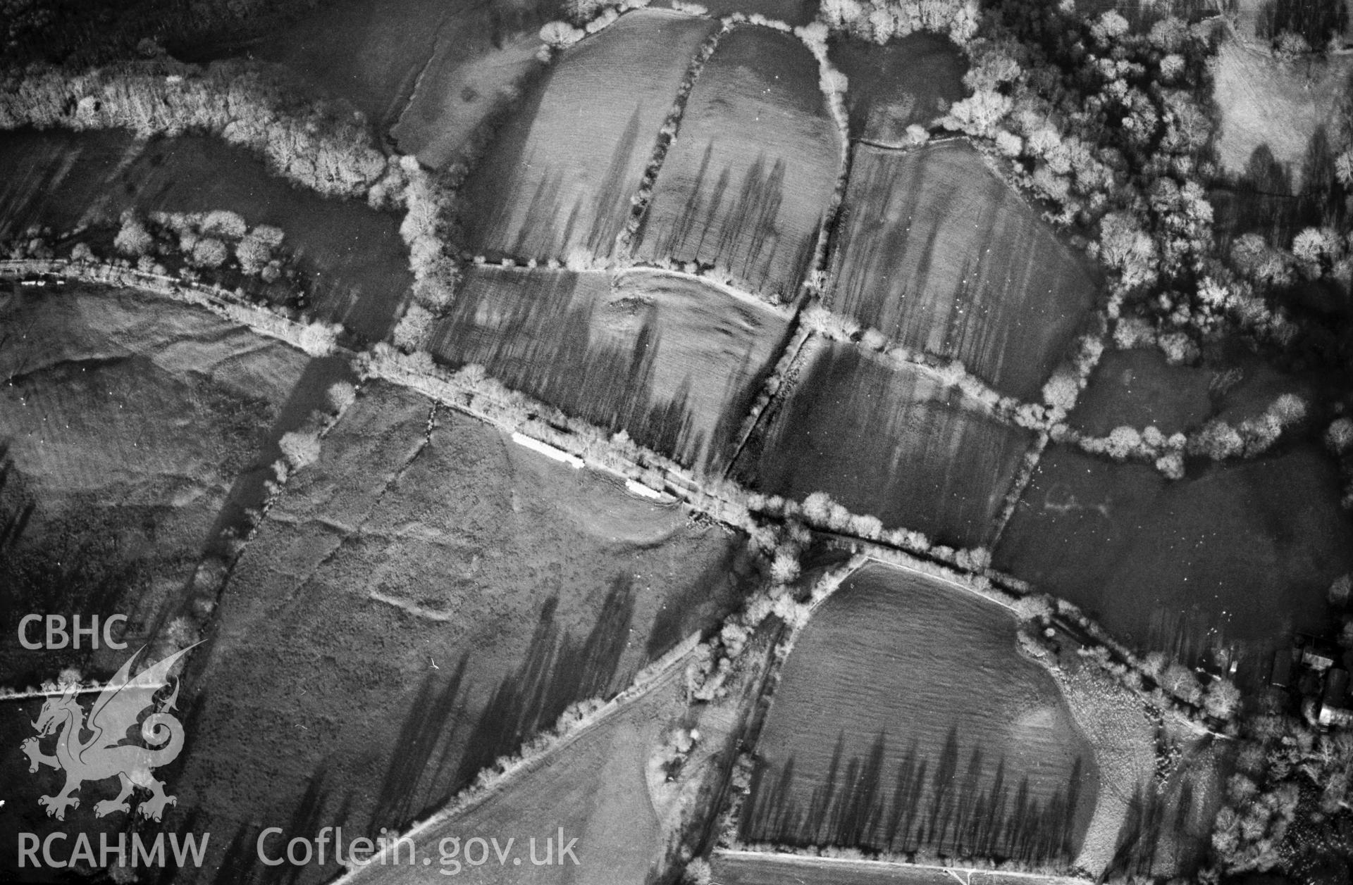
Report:
[{"label": "rough field with curving earthwork ridges at left edge, behind CBHC lettering", "polygon": [[[242,476],[277,457],[308,358],[127,289],[0,295],[0,686],[122,655],[28,651],[30,612],[129,616],[145,642],[191,578]],[[133,646],[134,647],[134,646]]]}]

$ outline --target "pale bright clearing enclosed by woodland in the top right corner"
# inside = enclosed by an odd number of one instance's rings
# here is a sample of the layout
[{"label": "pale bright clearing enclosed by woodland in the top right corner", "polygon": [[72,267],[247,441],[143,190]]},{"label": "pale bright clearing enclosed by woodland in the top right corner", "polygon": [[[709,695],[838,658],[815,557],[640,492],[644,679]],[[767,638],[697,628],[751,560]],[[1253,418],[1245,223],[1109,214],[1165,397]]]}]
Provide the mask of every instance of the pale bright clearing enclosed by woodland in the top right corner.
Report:
[{"label": "pale bright clearing enclosed by woodland in the top right corner", "polygon": [[[1218,159],[1241,176],[1260,149],[1288,170],[1300,188],[1302,170],[1318,142],[1334,143],[1334,108],[1346,89],[1353,58],[1281,64],[1235,41],[1224,41],[1215,66],[1214,97],[1222,113]],[[1329,147],[1326,147],[1329,150]]]}]

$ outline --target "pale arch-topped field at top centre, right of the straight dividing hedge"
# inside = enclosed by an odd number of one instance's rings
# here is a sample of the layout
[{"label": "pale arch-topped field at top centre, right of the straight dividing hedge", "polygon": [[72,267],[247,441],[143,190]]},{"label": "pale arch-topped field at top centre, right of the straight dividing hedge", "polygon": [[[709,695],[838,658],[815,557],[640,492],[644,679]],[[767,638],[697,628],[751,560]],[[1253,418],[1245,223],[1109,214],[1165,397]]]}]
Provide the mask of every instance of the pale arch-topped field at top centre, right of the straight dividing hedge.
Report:
[{"label": "pale arch-topped field at top centre, right of the straight dividing hedge", "polygon": [[723,36],[658,174],[636,255],[717,265],[766,297],[793,296],[840,168],[817,78],[789,34]]}]

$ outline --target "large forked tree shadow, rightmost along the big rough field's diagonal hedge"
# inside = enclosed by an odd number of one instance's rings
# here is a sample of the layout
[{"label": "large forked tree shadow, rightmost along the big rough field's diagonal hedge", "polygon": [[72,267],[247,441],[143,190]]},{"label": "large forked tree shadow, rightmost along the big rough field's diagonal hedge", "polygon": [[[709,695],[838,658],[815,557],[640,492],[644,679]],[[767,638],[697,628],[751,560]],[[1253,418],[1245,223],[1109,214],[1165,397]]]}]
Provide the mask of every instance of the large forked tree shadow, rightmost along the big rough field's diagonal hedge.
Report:
[{"label": "large forked tree shadow, rightmost along the big rough field's diagonal hedge", "polygon": [[528,738],[553,726],[570,704],[610,692],[635,615],[632,580],[612,581],[597,623],[582,640],[555,622],[557,608],[557,596],[541,607],[526,659],[499,682],[480,713],[456,784],[468,784],[498,757],[515,753]]}]

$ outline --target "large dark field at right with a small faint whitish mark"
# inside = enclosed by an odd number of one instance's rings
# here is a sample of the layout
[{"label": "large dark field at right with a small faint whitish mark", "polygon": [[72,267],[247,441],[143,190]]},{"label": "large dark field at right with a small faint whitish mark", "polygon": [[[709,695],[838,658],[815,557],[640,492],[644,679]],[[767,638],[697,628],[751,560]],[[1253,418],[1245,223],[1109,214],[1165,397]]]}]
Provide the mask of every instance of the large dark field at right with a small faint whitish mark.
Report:
[{"label": "large dark field at right with a small faint whitish mark", "polygon": [[1015,509],[996,566],[1081,605],[1120,640],[1197,659],[1235,646],[1241,677],[1321,630],[1325,590],[1353,566],[1335,467],[1314,447],[1233,465],[1149,465],[1053,447]]}]

